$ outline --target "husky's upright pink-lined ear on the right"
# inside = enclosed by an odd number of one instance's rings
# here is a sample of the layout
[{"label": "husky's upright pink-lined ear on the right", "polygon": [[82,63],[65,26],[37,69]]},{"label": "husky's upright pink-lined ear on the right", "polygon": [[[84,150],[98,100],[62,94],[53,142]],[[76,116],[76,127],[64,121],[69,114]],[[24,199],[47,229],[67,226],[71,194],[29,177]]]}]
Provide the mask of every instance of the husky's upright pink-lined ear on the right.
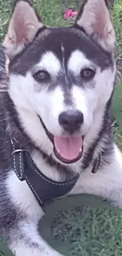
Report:
[{"label": "husky's upright pink-lined ear on the right", "polygon": [[102,48],[113,53],[115,32],[110,20],[109,5],[112,0],[87,0],[79,10],[75,26],[96,40]]}]

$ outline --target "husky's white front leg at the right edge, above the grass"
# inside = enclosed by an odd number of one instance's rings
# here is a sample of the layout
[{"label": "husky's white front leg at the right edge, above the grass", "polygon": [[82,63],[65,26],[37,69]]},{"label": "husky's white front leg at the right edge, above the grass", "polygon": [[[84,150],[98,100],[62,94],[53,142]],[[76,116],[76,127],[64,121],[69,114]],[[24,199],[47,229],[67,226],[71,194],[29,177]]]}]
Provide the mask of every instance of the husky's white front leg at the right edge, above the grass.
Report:
[{"label": "husky's white front leg at the right edge, above the grass", "polygon": [[122,154],[116,146],[109,161],[97,173],[85,170],[70,194],[97,195],[122,208]]}]

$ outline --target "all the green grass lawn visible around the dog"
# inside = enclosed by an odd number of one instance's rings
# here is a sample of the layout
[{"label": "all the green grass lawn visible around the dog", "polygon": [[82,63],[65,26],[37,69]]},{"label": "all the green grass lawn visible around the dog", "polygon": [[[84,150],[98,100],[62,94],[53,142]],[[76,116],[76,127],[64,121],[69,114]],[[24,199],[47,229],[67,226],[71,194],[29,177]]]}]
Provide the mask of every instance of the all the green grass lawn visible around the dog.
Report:
[{"label": "all the green grass lawn visible around the dog", "polygon": [[[81,1],[34,0],[33,2],[38,12],[42,13],[41,17],[45,24],[50,26],[65,26],[72,20],[63,20],[63,11],[69,7],[79,9]],[[2,43],[3,36],[6,33],[6,27],[12,12],[12,4],[13,0],[0,0],[0,43]],[[119,81],[119,83],[117,82],[115,96],[113,98],[113,134],[116,143],[122,150],[122,82],[120,81],[122,76],[122,0],[115,0],[111,17],[116,30],[117,81]],[[120,222],[122,222],[122,214],[115,216],[110,211],[79,208],[61,213],[55,220],[55,223],[57,222],[59,228],[54,225],[54,236],[59,240],[70,240],[75,244],[76,250],[72,250],[70,255],[122,255],[122,233],[120,232],[119,235],[116,233],[117,228],[120,227]],[[102,230],[99,228],[99,224]],[[68,235],[65,235],[66,229]],[[105,231],[108,232],[106,236]],[[6,254],[0,254],[0,256],[6,256]]]}]

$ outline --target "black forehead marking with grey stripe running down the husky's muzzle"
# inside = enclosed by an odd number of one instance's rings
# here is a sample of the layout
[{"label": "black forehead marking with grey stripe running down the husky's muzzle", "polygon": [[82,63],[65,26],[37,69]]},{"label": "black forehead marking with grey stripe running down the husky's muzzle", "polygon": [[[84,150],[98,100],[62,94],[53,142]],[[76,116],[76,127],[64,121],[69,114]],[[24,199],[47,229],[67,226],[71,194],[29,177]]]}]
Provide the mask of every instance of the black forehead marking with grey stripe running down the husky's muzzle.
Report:
[{"label": "black forehead marking with grey stripe running down the husky's muzzle", "polygon": [[[68,42],[70,42],[70,44]],[[64,52],[61,50],[62,46]],[[31,69],[41,61],[43,54],[52,51],[61,62],[62,68],[61,72],[55,77],[55,80],[50,80],[48,89],[51,91],[60,85],[62,91],[64,91],[65,105],[73,106],[73,99],[70,93],[72,85],[76,84],[79,87],[86,86],[86,83],[81,79],[80,73],[76,76],[68,70],[68,60],[74,50],[83,52],[83,54],[85,54],[93,64],[99,66],[102,71],[107,67],[113,66],[111,54],[102,50],[102,48],[85,35],[83,31],[79,31],[75,28],[43,27],[39,29],[35,35],[34,41],[28,43],[28,46],[13,58],[13,61],[10,62],[9,70],[15,74],[25,76],[26,72],[31,71]],[[93,87],[93,84],[89,83],[88,86]]]}]

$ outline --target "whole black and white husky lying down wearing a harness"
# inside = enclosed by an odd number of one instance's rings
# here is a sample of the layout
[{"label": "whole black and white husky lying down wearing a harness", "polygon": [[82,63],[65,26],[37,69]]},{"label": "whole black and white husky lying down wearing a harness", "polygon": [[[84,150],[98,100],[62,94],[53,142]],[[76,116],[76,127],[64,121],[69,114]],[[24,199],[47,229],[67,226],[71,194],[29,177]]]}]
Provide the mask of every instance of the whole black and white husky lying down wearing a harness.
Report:
[{"label": "whole black and white husky lying down wearing a harness", "polygon": [[0,231],[17,256],[61,255],[38,232],[50,199],[85,193],[122,207],[108,6],[88,0],[71,27],[49,28],[28,1],[15,3],[3,42],[10,62],[0,94]]}]

